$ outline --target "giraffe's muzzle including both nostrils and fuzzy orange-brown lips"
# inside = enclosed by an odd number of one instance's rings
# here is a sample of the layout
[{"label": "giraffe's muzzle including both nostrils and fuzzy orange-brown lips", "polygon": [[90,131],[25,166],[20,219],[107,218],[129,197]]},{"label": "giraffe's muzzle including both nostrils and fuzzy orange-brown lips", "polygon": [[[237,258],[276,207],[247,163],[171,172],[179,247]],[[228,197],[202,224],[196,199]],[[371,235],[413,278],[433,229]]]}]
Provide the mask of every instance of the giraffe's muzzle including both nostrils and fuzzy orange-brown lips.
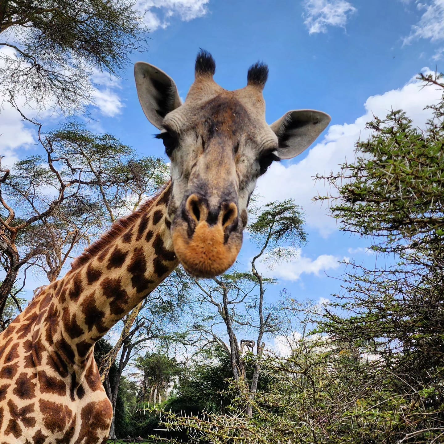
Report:
[{"label": "giraffe's muzzle including both nostrils and fuzzy orange-brown lips", "polygon": [[211,208],[191,194],[171,227],[174,250],[183,267],[196,277],[214,277],[234,264],[242,246],[238,206],[222,202]]}]

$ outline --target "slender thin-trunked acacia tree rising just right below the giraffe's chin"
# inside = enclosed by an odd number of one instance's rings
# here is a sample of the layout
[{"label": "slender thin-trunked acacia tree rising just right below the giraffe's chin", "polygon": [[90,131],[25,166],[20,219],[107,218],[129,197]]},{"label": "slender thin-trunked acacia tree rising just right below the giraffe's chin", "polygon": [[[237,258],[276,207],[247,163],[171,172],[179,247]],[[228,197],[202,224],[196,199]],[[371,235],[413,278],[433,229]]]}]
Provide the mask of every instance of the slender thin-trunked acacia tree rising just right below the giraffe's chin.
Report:
[{"label": "slender thin-trunked acacia tree rising just right below the giraffe's chin", "polygon": [[[225,350],[234,381],[248,385],[253,399],[265,349],[264,335],[273,333],[277,322],[277,311],[267,308],[264,301],[266,285],[274,281],[262,276],[257,264],[273,264],[294,256],[295,247],[306,242],[303,214],[292,200],[271,202],[256,211],[248,232],[259,249],[250,271],[234,270],[211,281],[195,281],[200,290],[197,305],[201,309],[194,311],[194,330],[206,338],[207,345]],[[247,374],[243,354],[249,349],[253,369]],[[251,415],[252,404],[246,409]]]}]

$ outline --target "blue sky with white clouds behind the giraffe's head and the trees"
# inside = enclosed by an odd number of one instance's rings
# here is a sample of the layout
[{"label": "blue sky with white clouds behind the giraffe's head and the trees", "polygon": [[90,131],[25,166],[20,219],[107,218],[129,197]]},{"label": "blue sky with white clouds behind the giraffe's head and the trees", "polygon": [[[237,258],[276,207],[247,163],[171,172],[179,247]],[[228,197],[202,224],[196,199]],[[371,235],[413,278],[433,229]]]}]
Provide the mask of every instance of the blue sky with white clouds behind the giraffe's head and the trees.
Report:
[{"label": "blue sky with white clouds behind the giraffe's head and the trees", "polygon": [[[166,71],[182,97],[194,79],[196,53],[205,48],[216,59],[215,80],[226,89],[245,86],[247,69],[257,60],[269,65],[264,90],[269,123],[291,109],[313,108],[332,116],[310,150],[270,168],[258,192],[265,201],[294,198],[306,212],[309,234],[298,258],[263,269],[280,282],[268,297],[282,287],[301,300],[337,292],[340,282],[325,273],[341,275],[339,260],[373,263],[376,258],[365,253],[368,242],[339,232],[325,205],[311,202],[326,191],[312,177],[353,158],[353,144],[368,136],[365,122],[372,113],[403,107],[424,127],[422,108],[439,94],[433,88],[420,91],[414,78],[425,68],[443,70],[444,0],[139,0],[138,5],[152,32],[148,52],[133,55],[132,61]],[[156,129],[140,108],[132,66],[121,79],[96,73],[94,81],[98,106],[91,106],[96,119],[91,125],[117,135],[141,155],[164,156],[162,142],[152,138]],[[0,132],[12,162],[32,151],[35,134],[8,109],[3,119],[7,125]],[[253,252],[246,240],[240,266]]]}]

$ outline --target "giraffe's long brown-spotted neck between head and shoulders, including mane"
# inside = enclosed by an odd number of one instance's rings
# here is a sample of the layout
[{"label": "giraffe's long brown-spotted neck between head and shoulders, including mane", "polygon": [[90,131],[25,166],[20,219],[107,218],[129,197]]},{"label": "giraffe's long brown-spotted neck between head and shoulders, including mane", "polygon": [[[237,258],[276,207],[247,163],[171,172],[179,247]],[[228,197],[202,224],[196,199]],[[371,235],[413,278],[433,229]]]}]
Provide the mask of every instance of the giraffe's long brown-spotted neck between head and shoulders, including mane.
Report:
[{"label": "giraffe's long brown-spotted neck between head and shoulders, including mane", "polygon": [[39,294],[33,338],[56,350],[60,366],[84,366],[95,342],[178,265],[166,219],[170,189],[112,226]]}]

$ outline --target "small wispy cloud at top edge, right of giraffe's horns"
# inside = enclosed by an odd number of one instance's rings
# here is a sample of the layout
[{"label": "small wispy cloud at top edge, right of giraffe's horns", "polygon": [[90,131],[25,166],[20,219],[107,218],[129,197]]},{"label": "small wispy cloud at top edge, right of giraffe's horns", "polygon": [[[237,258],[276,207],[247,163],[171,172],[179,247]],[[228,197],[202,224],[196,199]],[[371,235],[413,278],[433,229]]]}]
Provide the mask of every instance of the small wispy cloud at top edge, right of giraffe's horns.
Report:
[{"label": "small wispy cloud at top edge, right of giraffe's horns", "polygon": [[327,32],[328,26],[345,28],[348,16],[356,12],[356,8],[345,0],[304,0],[304,24],[309,34]]}]

